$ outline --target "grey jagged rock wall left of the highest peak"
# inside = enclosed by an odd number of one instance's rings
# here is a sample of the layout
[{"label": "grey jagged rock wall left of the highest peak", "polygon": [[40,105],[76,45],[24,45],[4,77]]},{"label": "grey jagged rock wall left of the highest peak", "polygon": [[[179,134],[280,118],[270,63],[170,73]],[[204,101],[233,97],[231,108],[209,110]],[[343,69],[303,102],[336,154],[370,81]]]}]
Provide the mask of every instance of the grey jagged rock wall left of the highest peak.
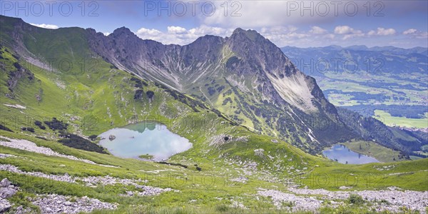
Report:
[{"label": "grey jagged rock wall left of the highest peak", "polygon": [[206,66],[216,63],[223,38],[203,36],[187,46],[142,40],[121,28],[104,36],[88,29],[91,49],[118,68],[182,90],[183,82],[196,81]]}]

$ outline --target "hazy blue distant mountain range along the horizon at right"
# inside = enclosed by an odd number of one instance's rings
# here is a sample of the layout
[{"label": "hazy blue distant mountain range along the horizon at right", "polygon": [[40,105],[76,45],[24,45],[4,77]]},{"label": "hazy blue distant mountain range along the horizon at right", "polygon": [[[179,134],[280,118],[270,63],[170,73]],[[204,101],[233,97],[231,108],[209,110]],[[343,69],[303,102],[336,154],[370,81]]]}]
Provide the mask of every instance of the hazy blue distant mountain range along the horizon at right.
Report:
[{"label": "hazy blue distant mountain range along the horizon at right", "polygon": [[367,72],[427,73],[428,49],[415,47],[402,49],[394,46],[368,48],[367,46],[325,46],[317,48],[282,47],[301,71],[311,76],[324,76],[327,71],[337,73]]}]

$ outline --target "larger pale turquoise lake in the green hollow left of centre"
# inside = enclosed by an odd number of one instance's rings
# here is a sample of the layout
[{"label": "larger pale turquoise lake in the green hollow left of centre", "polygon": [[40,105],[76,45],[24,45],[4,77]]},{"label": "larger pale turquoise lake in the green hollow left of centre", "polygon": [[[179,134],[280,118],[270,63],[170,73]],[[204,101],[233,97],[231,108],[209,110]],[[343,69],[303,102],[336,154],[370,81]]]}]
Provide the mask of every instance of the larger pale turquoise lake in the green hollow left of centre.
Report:
[{"label": "larger pale turquoise lake in the green hollow left of centre", "polygon": [[[116,138],[109,139],[110,136]],[[172,133],[165,125],[155,122],[135,123],[122,128],[113,128],[100,135],[101,146],[114,156],[138,158],[149,154],[161,161],[192,147],[188,139]]]}]

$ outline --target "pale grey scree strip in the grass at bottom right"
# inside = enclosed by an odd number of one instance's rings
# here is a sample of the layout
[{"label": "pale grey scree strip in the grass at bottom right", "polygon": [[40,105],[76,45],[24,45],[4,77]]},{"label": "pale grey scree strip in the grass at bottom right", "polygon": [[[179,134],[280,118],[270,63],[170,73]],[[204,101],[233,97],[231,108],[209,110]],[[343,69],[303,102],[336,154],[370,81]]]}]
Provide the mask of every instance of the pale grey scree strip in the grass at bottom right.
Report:
[{"label": "pale grey scree strip in the grass at bottom right", "polygon": [[[427,213],[428,192],[411,190],[362,190],[362,191],[329,191],[323,189],[297,189],[288,188],[290,193],[278,190],[258,190],[258,195],[272,198],[272,203],[277,208],[285,208],[290,211],[316,211],[327,203],[328,206],[336,208],[345,205],[341,200],[350,195],[360,195],[365,201],[370,202],[370,208],[377,212],[389,211],[400,213],[400,208]],[[287,205],[290,205],[288,207]]]}]

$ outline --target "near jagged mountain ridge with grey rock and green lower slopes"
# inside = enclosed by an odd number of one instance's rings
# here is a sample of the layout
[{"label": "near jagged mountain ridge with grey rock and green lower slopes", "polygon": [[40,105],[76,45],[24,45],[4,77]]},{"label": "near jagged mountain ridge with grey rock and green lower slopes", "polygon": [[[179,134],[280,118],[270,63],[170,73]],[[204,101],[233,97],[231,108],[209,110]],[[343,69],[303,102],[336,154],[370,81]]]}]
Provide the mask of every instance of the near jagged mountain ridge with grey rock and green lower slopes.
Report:
[{"label": "near jagged mountain ridge with grey rock and green lower slopes", "polygon": [[[41,67],[60,70],[49,65],[51,58],[77,64],[77,53],[89,60],[99,57],[114,68],[200,98],[252,131],[286,139],[311,153],[353,136],[315,79],[297,70],[256,31],[236,29],[230,37],[203,36],[178,46],[140,39],[126,28],[104,36],[93,29],[40,29],[6,17],[1,22],[6,44]],[[68,55],[58,55],[65,49]]]}]

